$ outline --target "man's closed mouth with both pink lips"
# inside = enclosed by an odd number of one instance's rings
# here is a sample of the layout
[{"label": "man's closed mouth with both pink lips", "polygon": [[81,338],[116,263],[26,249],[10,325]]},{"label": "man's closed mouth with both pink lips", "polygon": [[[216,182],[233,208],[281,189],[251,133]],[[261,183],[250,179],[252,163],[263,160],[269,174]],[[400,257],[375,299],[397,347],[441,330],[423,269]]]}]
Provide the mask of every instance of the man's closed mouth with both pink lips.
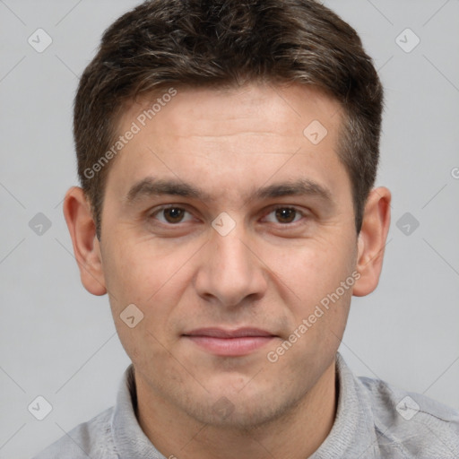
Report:
[{"label": "man's closed mouth with both pink lips", "polygon": [[238,357],[264,347],[277,335],[257,328],[200,328],[182,335],[204,351],[214,355]]}]

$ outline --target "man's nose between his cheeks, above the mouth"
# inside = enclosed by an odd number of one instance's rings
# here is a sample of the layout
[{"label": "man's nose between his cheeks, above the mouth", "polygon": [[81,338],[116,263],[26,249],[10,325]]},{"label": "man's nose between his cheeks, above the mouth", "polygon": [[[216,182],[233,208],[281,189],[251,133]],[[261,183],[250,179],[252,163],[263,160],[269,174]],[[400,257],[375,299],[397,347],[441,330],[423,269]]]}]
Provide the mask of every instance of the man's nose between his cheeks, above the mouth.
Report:
[{"label": "man's nose between his cheeks, above the mouth", "polygon": [[199,296],[223,307],[237,307],[261,299],[266,287],[263,261],[250,247],[245,231],[237,226],[221,236],[212,230],[195,276]]}]

